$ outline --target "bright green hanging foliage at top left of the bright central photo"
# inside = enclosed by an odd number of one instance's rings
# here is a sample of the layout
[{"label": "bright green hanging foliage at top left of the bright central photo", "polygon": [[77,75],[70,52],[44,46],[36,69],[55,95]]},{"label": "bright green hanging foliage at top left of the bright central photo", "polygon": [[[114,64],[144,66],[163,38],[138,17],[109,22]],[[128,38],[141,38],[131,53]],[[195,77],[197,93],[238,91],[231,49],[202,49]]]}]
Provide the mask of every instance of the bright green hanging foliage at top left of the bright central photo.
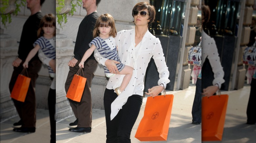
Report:
[{"label": "bright green hanging foliage at top left of the bright central photo", "polygon": [[76,0],[76,2],[74,0],[71,1],[71,11],[68,13],[63,13],[61,14],[61,10],[62,8],[65,7],[65,0],[56,0],[56,4],[58,4],[56,7],[56,19],[58,24],[60,25],[60,27],[62,28],[62,23],[64,22],[67,23],[68,19],[67,19],[67,14],[73,16],[74,12],[76,12],[75,7],[80,6],[82,4],[82,0]]}]

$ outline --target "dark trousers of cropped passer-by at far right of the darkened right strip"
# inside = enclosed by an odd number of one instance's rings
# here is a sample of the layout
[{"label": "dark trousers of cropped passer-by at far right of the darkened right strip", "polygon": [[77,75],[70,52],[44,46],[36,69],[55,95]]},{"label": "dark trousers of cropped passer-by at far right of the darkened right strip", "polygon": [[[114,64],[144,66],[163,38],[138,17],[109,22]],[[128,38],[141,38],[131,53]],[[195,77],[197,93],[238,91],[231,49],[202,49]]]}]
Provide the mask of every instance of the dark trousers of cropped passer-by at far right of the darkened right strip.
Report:
[{"label": "dark trousers of cropped passer-by at far right of the darkened right strip", "polygon": [[256,79],[252,78],[251,80],[251,91],[250,91],[250,97],[249,101],[247,104],[247,110],[246,110],[246,115],[247,115],[247,122],[256,122],[256,113],[255,113],[255,108],[256,108]]}]

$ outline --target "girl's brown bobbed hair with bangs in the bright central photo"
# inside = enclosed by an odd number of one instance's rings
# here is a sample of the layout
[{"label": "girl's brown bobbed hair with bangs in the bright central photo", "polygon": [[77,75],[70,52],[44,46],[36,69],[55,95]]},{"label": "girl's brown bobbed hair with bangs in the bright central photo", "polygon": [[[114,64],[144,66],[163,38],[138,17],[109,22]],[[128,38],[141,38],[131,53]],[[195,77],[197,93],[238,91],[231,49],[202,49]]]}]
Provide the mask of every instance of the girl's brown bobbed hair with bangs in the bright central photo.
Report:
[{"label": "girl's brown bobbed hair with bangs in the bright central photo", "polygon": [[115,26],[115,21],[114,21],[114,18],[106,13],[106,14],[102,14],[96,21],[96,24],[94,26],[94,30],[93,30],[93,37],[97,37],[99,36],[99,29],[98,27],[99,26],[111,26],[111,31],[109,33],[109,36],[112,36],[112,37],[116,37],[117,36],[117,29],[116,29],[116,26]]}]

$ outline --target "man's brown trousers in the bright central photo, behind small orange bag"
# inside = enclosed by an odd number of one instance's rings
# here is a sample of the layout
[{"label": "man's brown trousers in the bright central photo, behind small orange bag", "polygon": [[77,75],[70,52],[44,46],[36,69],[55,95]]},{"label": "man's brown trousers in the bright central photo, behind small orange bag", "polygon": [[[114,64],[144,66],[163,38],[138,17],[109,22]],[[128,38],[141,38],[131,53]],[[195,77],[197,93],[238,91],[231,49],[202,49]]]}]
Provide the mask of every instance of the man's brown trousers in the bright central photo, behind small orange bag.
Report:
[{"label": "man's brown trousers in the bright central photo, behind small orange bag", "polygon": [[[74,74],[79,69],[78,64],[81,60],[78,60],[74,67],[69,67],[68,77],[65,83],[66,93],[68,92],[71,81]],[[75,118],[78,118],[77,127],[92,127],[92,98],[91,98],[91,85],[94,71],[97,68],[98,62],[95,59],[87,59],[84,62],[84,76],[86,79],[85,88],[80,102],[69,99],[70,106],[75,114]]]}]

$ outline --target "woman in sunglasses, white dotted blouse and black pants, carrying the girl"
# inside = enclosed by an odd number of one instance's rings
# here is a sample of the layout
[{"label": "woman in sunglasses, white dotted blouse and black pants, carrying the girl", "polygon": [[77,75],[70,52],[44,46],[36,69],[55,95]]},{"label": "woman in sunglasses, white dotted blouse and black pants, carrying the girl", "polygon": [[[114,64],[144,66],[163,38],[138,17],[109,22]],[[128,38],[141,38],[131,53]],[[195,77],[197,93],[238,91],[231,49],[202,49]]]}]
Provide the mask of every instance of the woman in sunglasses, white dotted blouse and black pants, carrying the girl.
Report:
[{"label": "woman in sunglasses, white dotted blouse and black pants, carrying the girl", "polygon": [[124,75],[119,74],[116,66],[118,62],[103,58],[95,51],[96,60],[106,66],[111,73],[117,73],[109,78],[104,93],[106,142],[131,142],[131,131],[142,104],[144,76],[152,56],[160,79],[158,86],[148,89],[146,94],[155,97],[170,82],[160,40],[148,30],[148,26],[154,22],[155,14],[154,6],[140,2],[132,11],[135,28],[117,32],[115,41],[121,63],[134,68],[129,84],[119,96],[114,89],[121,85]]}]

